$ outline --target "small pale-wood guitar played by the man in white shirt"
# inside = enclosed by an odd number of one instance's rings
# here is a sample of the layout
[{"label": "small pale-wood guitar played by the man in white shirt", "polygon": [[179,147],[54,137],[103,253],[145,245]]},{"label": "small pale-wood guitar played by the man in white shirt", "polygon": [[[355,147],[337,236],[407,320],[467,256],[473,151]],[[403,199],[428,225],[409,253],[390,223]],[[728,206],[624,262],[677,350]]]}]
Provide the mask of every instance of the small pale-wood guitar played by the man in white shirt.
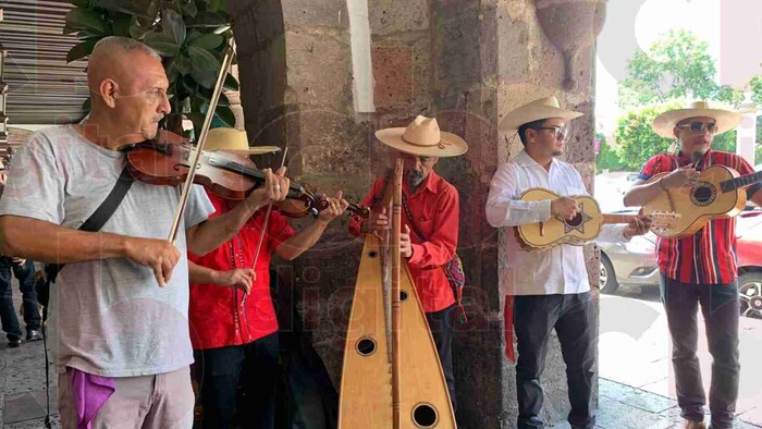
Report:
[{"label": "small pale-wood guitar played by the man in white shirt", "polygon": [[[534,187],[521,194],[521,201],[553,200],[561,196],[543,188]],[[545,222],[526,223],[514,228],[516,241],[525,250],[545,250],[560,244],[583,245],[598,237],[606,223],[629,223],[634,214],[602,213],[601,208],[592,197],[575,196],[579,204],[579,212],[574,219],[551,218]],[[672,230],[679,214],[666,211],[651,212],[652,230]]]}]

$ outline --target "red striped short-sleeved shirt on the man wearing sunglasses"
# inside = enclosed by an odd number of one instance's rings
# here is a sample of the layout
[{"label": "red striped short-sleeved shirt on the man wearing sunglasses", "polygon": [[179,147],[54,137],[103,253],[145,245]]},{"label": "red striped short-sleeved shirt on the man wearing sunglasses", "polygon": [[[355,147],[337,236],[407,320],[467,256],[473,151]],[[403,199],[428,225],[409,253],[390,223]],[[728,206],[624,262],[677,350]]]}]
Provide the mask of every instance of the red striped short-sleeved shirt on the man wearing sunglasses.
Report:
[{"label": "red striped short-sleeved shirt on the man wearing sunglasses", "polygon": [[[656,155],[646,162],[638,179],[685,167],[692,161],[683,155]],[[697,162],[698,170],[710,166],[725,166],[740,175],[753,173],[749,163],[735,154],[708,150]],[[747,188],[747,197],[760,188],[759,184]],[[713,219],[696,234],[685,238],[662,238],[656,242],[659,268],[669,279],[690,284],[727,284],[738,277],[736,254],[736,219]]]}]

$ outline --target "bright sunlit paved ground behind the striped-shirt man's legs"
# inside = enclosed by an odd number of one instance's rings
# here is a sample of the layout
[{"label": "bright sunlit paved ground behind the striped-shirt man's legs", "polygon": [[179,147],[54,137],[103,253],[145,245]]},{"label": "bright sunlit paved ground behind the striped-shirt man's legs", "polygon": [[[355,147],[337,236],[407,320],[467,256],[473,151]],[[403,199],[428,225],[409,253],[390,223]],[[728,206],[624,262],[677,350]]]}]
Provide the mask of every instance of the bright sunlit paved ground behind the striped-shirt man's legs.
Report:
[{"label": "bright sunlit paved ground behind the striped-shirt man's legs", "polygon": [[[699,338],[701,373],[704,389],[708,390],[712,357],[708,353],[703,319],[700,316]],[[666,316],[656,287],[622,286],[616,295],[601,295],[599,371],[601,378],[609,380],[601,382],[601,407],[605,409],[605,396],[616,401],[625,397],[627,401],[618,402],[638,406],[637,399],[647,397],[649,393],[674,402],[676,395],[671,351]],[[737,418],[740,420],[738,427],[762,427],[760,357],[762,320],[741,317],[741,381],[736,407]],[[636,389],[637,395],[622,396],[620,385]],[[632,397],[636,399],[635,402],[630,402]],[[655,410],[651,406],[648,408]],[[657,414],[663,412],[659,410]]]}]

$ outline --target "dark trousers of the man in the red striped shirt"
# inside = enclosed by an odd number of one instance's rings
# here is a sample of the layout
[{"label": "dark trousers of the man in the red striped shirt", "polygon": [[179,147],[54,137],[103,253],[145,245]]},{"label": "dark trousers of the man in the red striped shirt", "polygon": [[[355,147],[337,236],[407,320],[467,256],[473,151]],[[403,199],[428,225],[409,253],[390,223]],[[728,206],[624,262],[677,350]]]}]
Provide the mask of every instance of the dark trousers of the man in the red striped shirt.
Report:
[{"label": "dark trousers of the man in the red striped shirt", "polygon": [[709,389],[712,427],[732,428],[740,377],[738,282],[685,284],[661,275],[660,286],[672,336],[672,364],[683,417],[697,421],[704,419],[706,397],[696,356],[699,341],[697,314],[701,306],[709,353],[713,358]]}]

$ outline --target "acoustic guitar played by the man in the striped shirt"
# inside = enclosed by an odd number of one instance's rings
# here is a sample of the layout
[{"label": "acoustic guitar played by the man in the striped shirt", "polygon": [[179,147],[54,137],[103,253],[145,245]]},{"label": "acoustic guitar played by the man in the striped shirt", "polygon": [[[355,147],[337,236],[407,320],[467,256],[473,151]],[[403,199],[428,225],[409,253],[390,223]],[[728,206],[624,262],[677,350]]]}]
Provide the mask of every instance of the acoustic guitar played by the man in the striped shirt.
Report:
[{"label": "acoustic guitar played by the man in the striped shirt", "polygon": [[[653,183],[669,173],[659,173],[648,183]],[[739,176],[738,172],[724,166],[712,166],[699,173],[692,187],[662,191],[643,206],[646,214],[669,211],[681,214],[675,228],[653,231],[665,238],[683,238],[697,233],[714,218],[732,218],[746,207],[746,186],[762,181],[762,172]]]}]

